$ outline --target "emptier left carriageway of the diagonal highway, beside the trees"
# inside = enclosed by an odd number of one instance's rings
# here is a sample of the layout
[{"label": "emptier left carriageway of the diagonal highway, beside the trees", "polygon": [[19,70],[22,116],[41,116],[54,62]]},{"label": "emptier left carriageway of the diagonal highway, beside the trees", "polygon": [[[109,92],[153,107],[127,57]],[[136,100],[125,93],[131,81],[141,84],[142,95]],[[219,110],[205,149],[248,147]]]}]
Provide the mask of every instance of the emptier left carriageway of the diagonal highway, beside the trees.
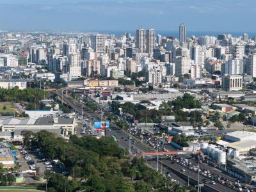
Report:
[{"label": "emptier left carriageway of the diagonal highway, beside the trees", "polygon": [[[56,94],[61,98],[62,94],[61,92],[65,90],[65,88],[62,88],[60,90],[56,91]],[[82,109],[81,109],[81,103],[74,104],[68,97],[63,94],[63,101],[68,104],[74,111],[79,113],[80,115],[82,114]],[[93,118],[93,120],[106,120],[104,117],[100,116],[98,113],[94,112],[89,112],[83,111],[83,115],[86,118]],[[93,121],[92,120],[92,121]],[[119,141],[118,144],[120,147],[126,148],[129,150],[129,133],[120,129],[117,127],[115,124],[111,123],[111,129],[106,132],[107,136],[115,136],[116,139]],[[145,146],[145,143],[140,143],[138,139],[136,139],[136,142],[134,142],[134,136],[131,136],[133,140],[131,141],[131,156],[136,156],[138,152],[150,152],[152,149],[148,146]],[[155,157],[148,157],[148,162],[147,162],[152,168],[156,168],[157,166],[157,161]],[[171,173],[171,178],[177,180],[180,184],[188,184],[188,177],[189,177],[189,184],[192,184],[195,186],[198,183],[198,174],[189,170],[189,168],[185,168],[184,166],[177,164],[177,163],[172,163],[170,160],[159,160],[159,170],[160,167],[162,167],[162,170],[164,168],[164,173],[170,172]],[[181,170],[184,169],[185,172],[182,172]],[[204,183],[203,183],[204,180]],[[205,183],[207,181],[207,183]],[[200,184],[204,184],[204,187],[202,188],[202,191],[236,191],[234,189],[228,188],[227,186],[223,186],[221,184],[210,184],[211,179],[207,177],[203,177],[200,175]]]}]

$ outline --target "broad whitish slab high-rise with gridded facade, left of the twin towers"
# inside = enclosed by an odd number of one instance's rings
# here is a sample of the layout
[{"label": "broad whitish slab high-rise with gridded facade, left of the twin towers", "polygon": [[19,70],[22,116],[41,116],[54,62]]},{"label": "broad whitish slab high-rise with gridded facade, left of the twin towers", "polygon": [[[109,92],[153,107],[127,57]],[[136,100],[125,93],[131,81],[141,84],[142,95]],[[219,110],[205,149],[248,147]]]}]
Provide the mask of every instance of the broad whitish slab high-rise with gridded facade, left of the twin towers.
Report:
[{"label": "broad whitish slab high-rise with gridded facade, left of the twin towers", "polygon": [[92,49],[99,54],[104,54],[106,52],[105,40],[106,35],[92,35]]}]

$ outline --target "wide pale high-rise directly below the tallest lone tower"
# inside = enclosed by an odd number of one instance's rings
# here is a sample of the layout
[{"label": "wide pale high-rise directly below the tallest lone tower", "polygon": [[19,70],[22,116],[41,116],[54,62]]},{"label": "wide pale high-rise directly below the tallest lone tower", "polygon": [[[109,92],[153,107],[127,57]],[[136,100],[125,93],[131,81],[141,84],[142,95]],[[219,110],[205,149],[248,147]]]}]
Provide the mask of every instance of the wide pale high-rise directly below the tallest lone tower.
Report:
[{"label": "wide pale high-rise directly below the tallest lone tower", "polygon": [[184,74],[189,74],[191,69],[191,60],[186,56],[179,56],[175,60],[175,76],[180,77]]}]

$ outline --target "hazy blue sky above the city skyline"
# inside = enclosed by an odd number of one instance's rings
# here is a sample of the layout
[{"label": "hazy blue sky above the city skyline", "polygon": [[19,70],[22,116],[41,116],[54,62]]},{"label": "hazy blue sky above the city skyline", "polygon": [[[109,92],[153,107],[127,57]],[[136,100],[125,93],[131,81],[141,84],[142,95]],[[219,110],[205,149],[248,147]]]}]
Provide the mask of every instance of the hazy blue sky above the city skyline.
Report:
[{"label": "hazy blue sky above the city skyline", "polygon": [[0,0],[0,8],[1,30],[256,31],[255,0]]}]

